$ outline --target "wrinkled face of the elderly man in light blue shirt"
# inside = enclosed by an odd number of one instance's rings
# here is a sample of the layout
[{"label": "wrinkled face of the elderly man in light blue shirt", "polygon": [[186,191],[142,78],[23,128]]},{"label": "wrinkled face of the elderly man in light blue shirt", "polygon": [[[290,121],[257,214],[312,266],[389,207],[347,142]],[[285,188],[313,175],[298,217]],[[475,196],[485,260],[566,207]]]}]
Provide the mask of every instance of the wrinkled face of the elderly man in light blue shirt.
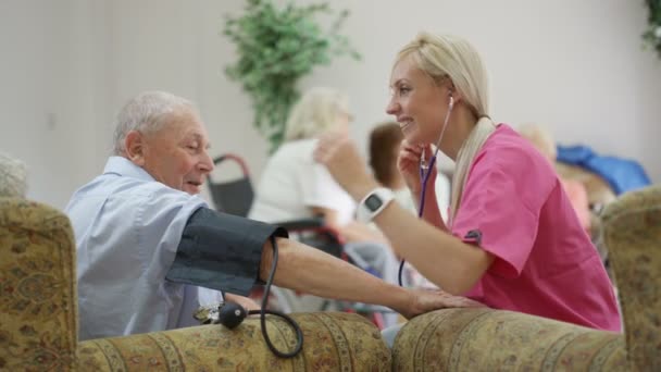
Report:
[{"label": "wrinkled face of the elderly man in light blue shirt", "polygon": [[200,193],[200,186],[213,170],[209,157],[207,129],[189,109],[173,114],[161,131],[147,135],[142,166],[157,181],[188,194]]}]

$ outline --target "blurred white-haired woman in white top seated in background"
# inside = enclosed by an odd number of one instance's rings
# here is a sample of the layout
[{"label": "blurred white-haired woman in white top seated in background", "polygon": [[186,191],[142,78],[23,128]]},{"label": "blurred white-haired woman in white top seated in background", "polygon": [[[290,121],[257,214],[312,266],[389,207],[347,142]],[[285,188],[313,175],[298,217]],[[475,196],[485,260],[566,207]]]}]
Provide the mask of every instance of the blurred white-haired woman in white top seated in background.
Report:
[{"label": "blurred white-haired woman in white top seated in background", "polygon": [[266,163],[248,218],[282,222],[322,215],[348,243],[385,243],[382,234],[353,220],[356,202],[312,157],[320,135],[348,135],[350,121],[346,95],[322,87],[307,91],[291,109],[285,142]]}]

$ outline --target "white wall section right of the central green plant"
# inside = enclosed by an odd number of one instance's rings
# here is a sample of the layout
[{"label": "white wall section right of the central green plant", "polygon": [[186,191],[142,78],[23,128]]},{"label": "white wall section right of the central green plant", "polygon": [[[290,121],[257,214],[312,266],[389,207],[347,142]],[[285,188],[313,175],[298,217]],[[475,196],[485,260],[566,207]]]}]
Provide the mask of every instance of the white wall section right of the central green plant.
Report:
[{"label": "white wall section right of the central green plant", "polygon": [[[469,38],[490,73],[491,116],[548,125],[562,144],[643,162],[661,182],[661,60],[641,48],[641,1],[334,1],[352,14],[348,33],[364,53],[319,70],[307,85],[352,94],[364,138],[386,103],[392,58],[419,29]],[[445,160],[448,161],[448,160]]]}]

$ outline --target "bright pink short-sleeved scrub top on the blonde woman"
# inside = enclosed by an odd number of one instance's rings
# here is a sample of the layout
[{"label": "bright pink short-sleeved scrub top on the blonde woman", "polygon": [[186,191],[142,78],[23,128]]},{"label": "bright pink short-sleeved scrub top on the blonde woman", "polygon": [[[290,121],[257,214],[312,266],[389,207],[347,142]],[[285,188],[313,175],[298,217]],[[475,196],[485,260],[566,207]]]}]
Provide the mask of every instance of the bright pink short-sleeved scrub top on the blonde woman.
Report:
[{"label": "bright pink short-sleeved scrub top on the blonde woman", "polygon": [[613,286],[549,161],[498,125],[471,164],[452,235],[495,256],[467,297],[621,332]]}]

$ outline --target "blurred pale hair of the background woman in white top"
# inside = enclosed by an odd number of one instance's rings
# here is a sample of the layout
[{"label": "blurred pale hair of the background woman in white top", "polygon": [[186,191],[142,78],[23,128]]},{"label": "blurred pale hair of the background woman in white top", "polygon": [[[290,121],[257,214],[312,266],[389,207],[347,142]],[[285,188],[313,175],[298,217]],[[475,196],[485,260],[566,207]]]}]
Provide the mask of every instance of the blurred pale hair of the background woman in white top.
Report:
[{"label": "blurred pale hair of the background woman in white top", "polygon": [[294,106],[287,120],[285,140],[315,137],[332,128],[342,113],[349,114],[349,99],[339,90],[312,88]]}]

